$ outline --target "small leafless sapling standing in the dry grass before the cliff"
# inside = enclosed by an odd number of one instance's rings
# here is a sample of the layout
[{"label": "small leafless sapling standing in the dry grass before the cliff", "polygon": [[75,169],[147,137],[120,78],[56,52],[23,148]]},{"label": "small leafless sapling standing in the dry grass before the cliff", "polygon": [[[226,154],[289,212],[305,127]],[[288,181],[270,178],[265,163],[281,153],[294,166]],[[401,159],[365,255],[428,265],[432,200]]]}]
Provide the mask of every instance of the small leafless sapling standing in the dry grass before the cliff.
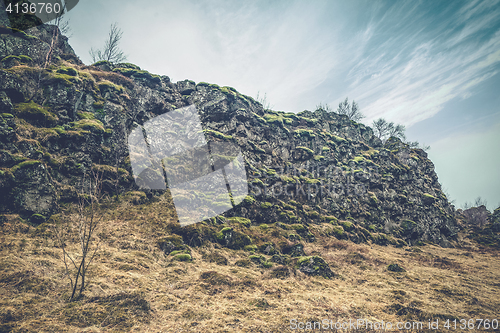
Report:
[{"label": "small leafless sapling standing in the dry grass before the cliff", "polygon": [[[77,291],[77,298],[84,292],[88,284],[87,272],[99,250],[100,243],[95,234],[103,219],[103,215],[99,214],[102,199],[102,174],[93,171],[88,179],[84,177],[82,180],[76,218],[64,225],[53,226],[56,241],[63,252],[65,275],[71,285],[70,302],[75,299]],[[78,244],[77,254],[70,254],[67,249],[70,242]]]}]

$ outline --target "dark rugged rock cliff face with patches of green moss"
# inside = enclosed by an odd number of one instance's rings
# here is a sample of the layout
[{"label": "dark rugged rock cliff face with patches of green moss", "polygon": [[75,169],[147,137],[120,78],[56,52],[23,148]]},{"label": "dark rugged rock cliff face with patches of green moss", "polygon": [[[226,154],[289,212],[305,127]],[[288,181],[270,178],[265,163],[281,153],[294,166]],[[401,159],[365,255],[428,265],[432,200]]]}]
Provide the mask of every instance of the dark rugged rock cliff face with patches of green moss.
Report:
[{"label": "dark rugged rock cliff face with patches of green moss", "polygon": [[[293,231],[283,236],[289,241],[314,241],[312,225],[355,242],[449,246],[455,239],[454,209],[423,150],[398,139],[382,144],[371,128],[334,113],[265,110],[232,87],[171,82],[129,63],[86,66],[65,37],[52,43],[53,29],[0,29],[2,212],[43,222],[78,198],[91,169],[103,173],[110,194],[161,195],[137,192],[128,135],[195,105],[207,141],[234,143],[244,155],[250,195],[226,218],[275,223]],[[232,229],[220,232],[214,237],[238,247]]]}]

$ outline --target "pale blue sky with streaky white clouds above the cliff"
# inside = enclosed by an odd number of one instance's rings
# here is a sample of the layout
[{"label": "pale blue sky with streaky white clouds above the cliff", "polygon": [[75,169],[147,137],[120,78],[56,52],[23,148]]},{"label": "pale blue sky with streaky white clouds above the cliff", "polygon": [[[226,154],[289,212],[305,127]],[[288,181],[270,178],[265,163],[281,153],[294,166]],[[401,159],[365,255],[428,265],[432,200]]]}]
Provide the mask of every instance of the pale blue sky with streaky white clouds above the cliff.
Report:
[{"label": "pale blue sky with streaky white clouds above the cliff", "polygon": [[66,17],[86,64],[113,23],[127,61],[227,85],[274,110],[355,100],[430,145],[457,207],[500,206],[499,1],[86,0]]}]

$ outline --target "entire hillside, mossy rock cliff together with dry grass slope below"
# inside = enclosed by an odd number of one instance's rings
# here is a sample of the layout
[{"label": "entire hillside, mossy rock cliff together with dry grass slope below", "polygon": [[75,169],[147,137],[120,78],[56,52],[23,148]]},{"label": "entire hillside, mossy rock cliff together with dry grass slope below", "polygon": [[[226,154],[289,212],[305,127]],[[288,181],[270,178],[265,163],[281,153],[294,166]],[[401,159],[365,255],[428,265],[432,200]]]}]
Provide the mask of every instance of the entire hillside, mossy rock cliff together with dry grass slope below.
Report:
[{"label": "entire hillside, mossy rock cliff together with dry grass slope below", "polygon": [[[499,221],[463,225],[423,150],[382,144],[335,113],[267,110],[232,87],[86,66],[63,36],[50,49],[52,29],[0,28],[0,332],[495,319]],[[137,185],[128,140],[188,106],[211,147],[241,151],[249,193],[181,227],[179,197]],[[92,172],[104,194],[90,208],[99,248],[86,291],[68,302],[62,247],[77,256]],[[200,200],[183,195],[187,207]]]}]

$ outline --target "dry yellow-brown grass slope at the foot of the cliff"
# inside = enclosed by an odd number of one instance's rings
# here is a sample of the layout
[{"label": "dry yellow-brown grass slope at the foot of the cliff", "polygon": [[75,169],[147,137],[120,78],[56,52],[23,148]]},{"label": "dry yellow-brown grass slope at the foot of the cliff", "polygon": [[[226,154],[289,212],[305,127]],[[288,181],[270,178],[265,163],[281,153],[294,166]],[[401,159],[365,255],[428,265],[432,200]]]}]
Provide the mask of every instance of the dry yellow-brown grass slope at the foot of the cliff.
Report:
[{"label": "dry yellow-brown grass slope at the foot of the cliff", "polygon": [[[193,262],[180,262],[156,246],[175,219],[169,208],[166,199],[110,205],[91,282],[73,303],[50,230],[8,216],[0,236],[0,332],[285,332],[294,318],[427,323],[498,315],[494,251],[318,236],[305,252],[329,263],[331,280],[276,264],[241,267],[235,263],[249,252],[211,243],[191,248]],[[392,263],[406,271],[388,271]]]}]

